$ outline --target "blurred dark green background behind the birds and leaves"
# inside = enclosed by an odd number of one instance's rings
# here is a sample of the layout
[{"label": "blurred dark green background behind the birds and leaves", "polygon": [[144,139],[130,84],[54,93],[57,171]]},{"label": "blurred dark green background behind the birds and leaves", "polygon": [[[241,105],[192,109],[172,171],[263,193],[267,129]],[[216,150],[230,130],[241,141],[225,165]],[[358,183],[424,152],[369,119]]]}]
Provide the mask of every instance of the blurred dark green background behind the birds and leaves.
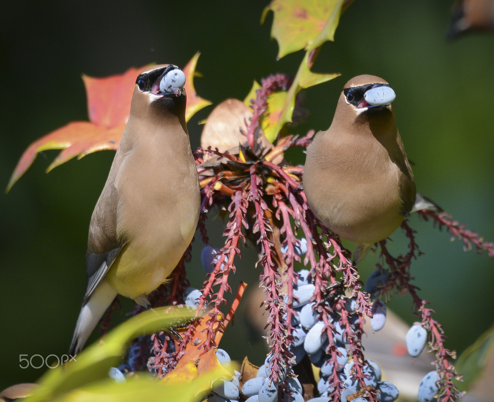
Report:
[{"label": "blurred dark green background behind the birds and leaves", "polygon": [[[341,18],[334,43],[326,43],[315,72],[341,77],[305,91],[311,114],[292,129],[325,130],[343,84],[362,73],[383,77],[397,94],[397,124],[415,163],[417,189],[469,228],[494,239],[494,37],[471,34],[448,42],[451,0],[356,0]],[[259,25],[266,1],[15,1],[0,5],[0,187],[24,149],[72,120],[86,120],[81,74],[105,76],[150,62],[183,67],[202,52],[198,93],[215,104],[244,99],[252,80],[294,74],[303,53],[276,61],[270,40],[272,14]],[[211,107],[189,122],[199,146]],[[114,152],[72,160],[48,175],[56,151],[43,152],[8,195],[0,194],[0,389],[36,380],[43,369],[22,369],[19,355],[67,352],[85,289],[84,255],[89,219]],[[294,163],[303,154],[290,153]],[[425,256],[412,265],[415,284],[431,301],[448,335],[463,351],[494,321],[494,261],[464,253],[431,223],[411,219]],[[220,246],[221,221],[208,223]],[[406,252],[403,234],[392,250]],[[192,286],[206,276],[202,245],[189,264]],[[252,248],[237,263],[236,284],[254,287],[259,274]],[[376,256],[359,266],[363,278]],[[245,303],[244,303],[245,304]],[[409,296],[390,303],[412,323]],[[131,302],[125,302],[125,308]],[[260,364],[264,341],[249,332],[241,306],[222,347]],[[97,335],[93,335],[95,339]],[[35,360],[35,364],[37,361]]]}]

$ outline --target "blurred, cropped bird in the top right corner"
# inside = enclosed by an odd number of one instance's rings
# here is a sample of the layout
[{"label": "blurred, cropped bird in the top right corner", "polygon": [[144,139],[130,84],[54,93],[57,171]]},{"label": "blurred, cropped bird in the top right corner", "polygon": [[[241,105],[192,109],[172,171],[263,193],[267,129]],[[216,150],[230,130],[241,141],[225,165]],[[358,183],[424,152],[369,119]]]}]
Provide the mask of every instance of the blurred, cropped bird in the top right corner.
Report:
[{"label": "blurred, cropped bird in the top right corner", "polygon": [[494,31],[494,0],[455,1],[448,38],[468,31]]}]

